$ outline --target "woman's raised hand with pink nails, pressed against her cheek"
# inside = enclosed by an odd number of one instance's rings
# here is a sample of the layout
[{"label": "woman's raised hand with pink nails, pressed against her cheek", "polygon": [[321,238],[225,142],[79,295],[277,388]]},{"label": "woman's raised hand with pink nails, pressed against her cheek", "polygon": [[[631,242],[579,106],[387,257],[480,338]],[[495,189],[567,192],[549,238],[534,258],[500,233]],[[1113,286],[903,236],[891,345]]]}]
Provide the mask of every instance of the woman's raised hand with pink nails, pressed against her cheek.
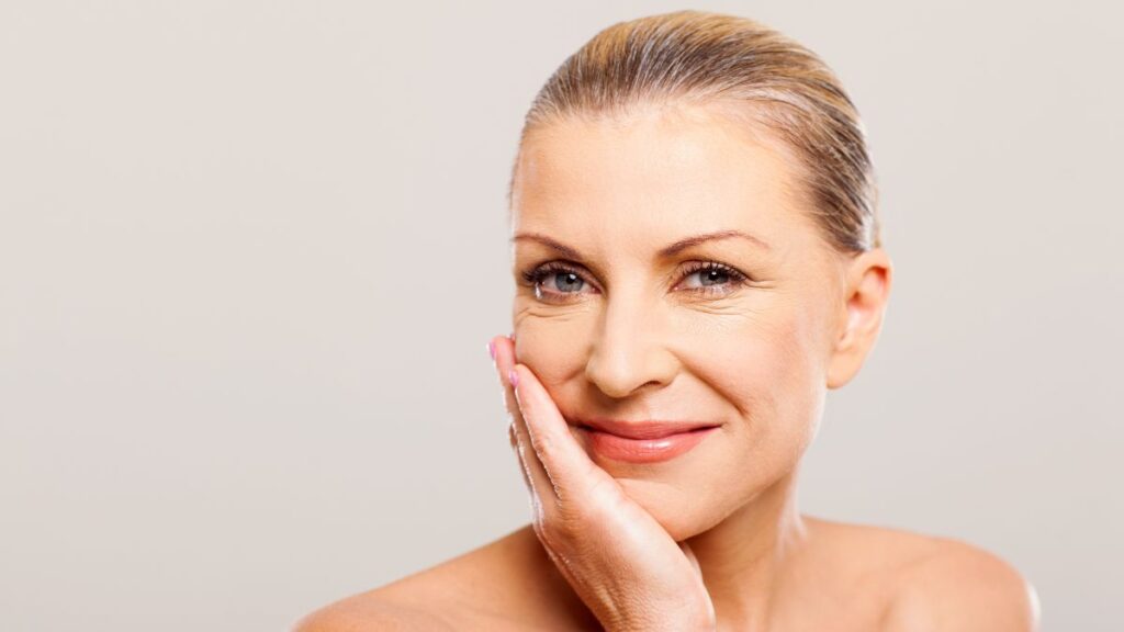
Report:
[{"label": "woman's raised hand with pink nails, pressed against her cheek", "polygon": [[690,548],[590,460],[513,340],[491,343],[535,534],[581,601],[610,632],[715,630]]}]

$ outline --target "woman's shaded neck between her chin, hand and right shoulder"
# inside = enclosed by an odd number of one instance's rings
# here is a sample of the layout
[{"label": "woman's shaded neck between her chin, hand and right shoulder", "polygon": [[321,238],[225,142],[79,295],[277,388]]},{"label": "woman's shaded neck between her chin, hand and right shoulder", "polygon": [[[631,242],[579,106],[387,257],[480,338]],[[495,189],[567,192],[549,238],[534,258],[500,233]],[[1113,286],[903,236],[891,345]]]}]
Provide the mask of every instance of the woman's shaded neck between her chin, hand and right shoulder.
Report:
[{"label": "woman's shaded neck between her chin, hand and right shoulder", "polygon": [[807,543],[794,470],[714,527],[687,539],[722,628],[764,630]]}]

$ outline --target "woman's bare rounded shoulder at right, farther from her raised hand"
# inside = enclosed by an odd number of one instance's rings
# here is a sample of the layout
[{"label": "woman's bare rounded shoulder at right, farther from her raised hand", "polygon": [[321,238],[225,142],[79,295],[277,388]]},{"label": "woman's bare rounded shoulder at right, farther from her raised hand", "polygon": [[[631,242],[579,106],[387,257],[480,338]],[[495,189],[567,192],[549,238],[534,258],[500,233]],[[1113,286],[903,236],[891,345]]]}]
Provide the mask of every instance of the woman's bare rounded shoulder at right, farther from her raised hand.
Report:
[{"label": "woman's bare rounded shoulder at right, farther from her raised hand", "polygon": [[960,542],[907,568],[882,632],[1037,632],[1034,587],[1003,559]]}]

